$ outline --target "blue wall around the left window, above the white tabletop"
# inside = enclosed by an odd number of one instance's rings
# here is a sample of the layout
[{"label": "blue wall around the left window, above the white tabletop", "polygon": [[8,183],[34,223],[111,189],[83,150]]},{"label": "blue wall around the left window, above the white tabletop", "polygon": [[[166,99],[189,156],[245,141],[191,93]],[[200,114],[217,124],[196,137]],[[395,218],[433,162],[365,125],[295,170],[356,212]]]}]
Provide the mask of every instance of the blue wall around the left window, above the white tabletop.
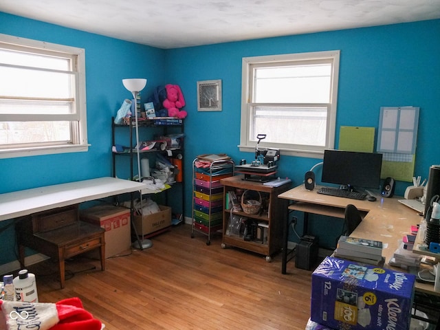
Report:
[{"label": "blue wall around the left window, above the white tabletop", "polygon": [[[166,52],[2,12],[0,33],[85,49],[87,131],[91,144],[86,153],[0,159],[0,193],[111,176],[111,116],[125,98],[132,98],[122,79],[148,78],[142,96],[151,94],[156,83],[165,83]],[[10,222],[0,222],[0,264],[16,260],[12,252],[14,230],[8,228],[1,233],[1,228]]]}]

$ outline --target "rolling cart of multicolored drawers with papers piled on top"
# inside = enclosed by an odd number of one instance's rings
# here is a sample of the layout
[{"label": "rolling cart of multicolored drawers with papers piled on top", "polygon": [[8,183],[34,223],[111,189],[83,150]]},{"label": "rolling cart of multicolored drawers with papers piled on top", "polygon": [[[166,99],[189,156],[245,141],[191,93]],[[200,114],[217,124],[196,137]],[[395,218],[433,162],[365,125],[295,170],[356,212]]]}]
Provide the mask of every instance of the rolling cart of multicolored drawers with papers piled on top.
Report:
[{"label": "rolling cart of multicolored drawers with papers piled on top", "polygon": [[223,227],[223,185],[220,180],[234,175],[234,161],[216,160],[209,167],[196,166],[192,162],[192,229],[208,236],[206,245],[211,243],[211,234]]}]

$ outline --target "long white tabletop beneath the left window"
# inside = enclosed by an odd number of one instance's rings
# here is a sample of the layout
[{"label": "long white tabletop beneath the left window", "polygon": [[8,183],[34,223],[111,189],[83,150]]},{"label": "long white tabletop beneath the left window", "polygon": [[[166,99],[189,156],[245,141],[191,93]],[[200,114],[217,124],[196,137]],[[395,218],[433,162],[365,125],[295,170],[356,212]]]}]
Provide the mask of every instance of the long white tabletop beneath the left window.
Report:
[{"label": "long white tabletop beneath the left window", "polygon": [[34,212],[142,190],[145,184],[115,177],[43,186],[0,194],[0,221]]}]

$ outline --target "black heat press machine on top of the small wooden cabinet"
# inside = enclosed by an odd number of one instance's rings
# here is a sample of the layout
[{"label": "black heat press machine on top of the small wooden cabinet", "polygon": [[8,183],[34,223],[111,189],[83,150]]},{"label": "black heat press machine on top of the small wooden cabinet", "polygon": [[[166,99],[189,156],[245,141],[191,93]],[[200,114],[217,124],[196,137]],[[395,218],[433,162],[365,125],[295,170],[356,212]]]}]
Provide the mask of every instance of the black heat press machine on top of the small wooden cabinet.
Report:
[{"label": "black heat press machine on top of the small wooden cabinet", "polygon": [[235,171],[243,173],[244,179],[248,181],[266,182],[276,177],[278,165],[276,162],[280,159],[280,150],[276,148],[260,148],[261,140],[264,140],[266,134],[256,135],[259,140],[255,146],[255,159],[250,164],[246,164],[245,159],[241,159],[240,164],[235,166]]}]

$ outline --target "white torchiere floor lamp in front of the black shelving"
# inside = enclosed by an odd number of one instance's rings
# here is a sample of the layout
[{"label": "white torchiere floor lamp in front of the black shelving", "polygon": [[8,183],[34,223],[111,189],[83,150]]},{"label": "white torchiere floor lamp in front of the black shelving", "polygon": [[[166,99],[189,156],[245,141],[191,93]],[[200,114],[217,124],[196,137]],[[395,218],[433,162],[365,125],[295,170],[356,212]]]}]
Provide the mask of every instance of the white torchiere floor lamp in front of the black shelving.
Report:
[{"label": "white torchiere floor lamp in front of the black shelving", "polygon": [[[146,85],[146,79],[142,78],[134,78],[134,79],[122,79],[122,84],[124,84],[124,87],[131,91],[131,94],[133,94],[133,102],[134,102],[134,112],[135,112],[135,127],[136,127],[136,152],[137,152],[137,177],[140,182],[142,182],[142,176],[140,173],[140,154],[139,154],[139,125],[137,124],[137,94],[139,94],[142,89],[144,89]],[[141,190],[141,197],[140,197],[140,208],[142,212],[142,190]],[[141,214],[142,217],[142,214]],[[136,233],[137,234],[137,233]],[[137,241],[133,243],[133,247],[137,249],[148,249],[153,246],[153,242],[149,239],[144,239],[142,237],[142,240],[137,237]]]}]

